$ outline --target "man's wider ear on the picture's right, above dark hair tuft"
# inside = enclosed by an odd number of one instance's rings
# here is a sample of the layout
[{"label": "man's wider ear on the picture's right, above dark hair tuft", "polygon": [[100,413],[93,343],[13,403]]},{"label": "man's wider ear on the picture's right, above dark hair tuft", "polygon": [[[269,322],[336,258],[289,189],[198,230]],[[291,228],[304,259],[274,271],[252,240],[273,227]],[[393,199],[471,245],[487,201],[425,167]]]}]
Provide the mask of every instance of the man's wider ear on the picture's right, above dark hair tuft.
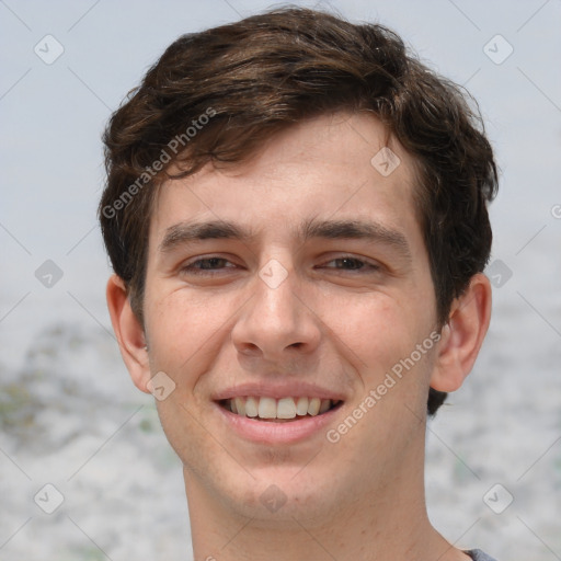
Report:
[{"label": "man's wider ear on the picture's right, above dark hair tuft", "polygon": [[491,320],[491,284],[478,273],[467,290],[451,305],[447,324],[438,342],[438,355],[431,387],[455,391],[473,367]]}]

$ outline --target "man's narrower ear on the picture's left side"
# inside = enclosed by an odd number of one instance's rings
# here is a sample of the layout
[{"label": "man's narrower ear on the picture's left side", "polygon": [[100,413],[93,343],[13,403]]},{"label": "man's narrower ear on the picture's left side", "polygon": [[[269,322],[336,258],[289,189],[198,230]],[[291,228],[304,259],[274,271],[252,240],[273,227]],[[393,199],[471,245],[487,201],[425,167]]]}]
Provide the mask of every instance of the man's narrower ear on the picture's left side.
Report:
[{"label": "man's narrower ear on the picture's left side", "polygon": [[150,393],[147,383],[150,380],[150,367],[146,337],[142,327],[135,316],[124,280],[112,275],[107,282],[107,307],[113,330],[117,336],[123,360],[135,386]]}]

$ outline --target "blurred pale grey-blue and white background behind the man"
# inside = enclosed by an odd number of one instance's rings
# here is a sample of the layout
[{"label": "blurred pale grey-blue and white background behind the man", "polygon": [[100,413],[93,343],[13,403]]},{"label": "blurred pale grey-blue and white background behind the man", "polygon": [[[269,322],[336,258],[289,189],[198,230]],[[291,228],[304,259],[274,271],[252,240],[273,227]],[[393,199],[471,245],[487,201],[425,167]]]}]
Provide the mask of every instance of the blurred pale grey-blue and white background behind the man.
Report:
[{"label": "blurred pale grey-blue and white background behind the man", "polygon": [[[295,3],[392,27],[479,101],[493,320],[427,430],[428,510],[458,547],[561,559],[561,2]],[[190,559],[181,465],[105,307],[101,134],[179,35],[273,5],[0,0],[0,560]]]}]

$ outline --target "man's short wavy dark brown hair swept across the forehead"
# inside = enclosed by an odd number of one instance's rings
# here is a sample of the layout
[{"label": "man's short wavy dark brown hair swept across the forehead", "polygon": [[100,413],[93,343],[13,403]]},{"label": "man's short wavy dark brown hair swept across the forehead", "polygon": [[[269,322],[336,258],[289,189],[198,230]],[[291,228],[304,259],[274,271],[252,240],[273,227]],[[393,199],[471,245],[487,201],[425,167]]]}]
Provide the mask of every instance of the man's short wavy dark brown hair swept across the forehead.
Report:
[{"label": "man's short wavy dark brown hair swept across the forehead", "polygon": [[[152,201],[170,163],[181,165],[176,178],[209,161],[240,162],[275,133],[335,111],[376,115],[413,156],[436,312],[446,323],[491,251],[486,203],[497,174],[477,104],[390,30],[300,8],[181,36],[111,117],[99,217],[140,321]],[[445,398],[431,388],[428,413]]]}]

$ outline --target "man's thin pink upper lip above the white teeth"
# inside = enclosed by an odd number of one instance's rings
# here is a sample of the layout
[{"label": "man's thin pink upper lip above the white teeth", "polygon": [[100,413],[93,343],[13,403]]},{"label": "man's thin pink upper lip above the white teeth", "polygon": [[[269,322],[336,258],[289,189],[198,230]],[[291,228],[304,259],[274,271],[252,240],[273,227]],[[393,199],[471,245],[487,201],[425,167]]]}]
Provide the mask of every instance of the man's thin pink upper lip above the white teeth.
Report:
[{"label": "man's thin pink upper lip above the white teeth", "polygon": [[314,383],[304,381],[277,381],[277,382],[245,382],[230,386],[216,392],[213,397],[215,401],[231,398],[259,397],[259,398],[320,398],[331,399],[333,401],[344,401],[344,394],[341,391],[322,388]]}]

